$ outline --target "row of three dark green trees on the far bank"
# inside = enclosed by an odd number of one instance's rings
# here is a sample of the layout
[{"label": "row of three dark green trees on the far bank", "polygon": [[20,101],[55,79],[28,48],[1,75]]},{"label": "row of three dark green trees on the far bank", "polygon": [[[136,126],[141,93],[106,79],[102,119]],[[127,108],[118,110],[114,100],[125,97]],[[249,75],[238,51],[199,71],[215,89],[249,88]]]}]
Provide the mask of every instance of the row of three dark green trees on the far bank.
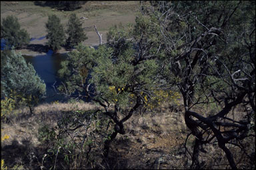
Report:
[{"label": "row of three dark green trees on the far bank", "polygon": [[[66,31],[61,24],[61,19],[56,15],[49,16],[45,27],[47,28],[46,38],[49,39],[48,46],[54,52],[58,52],[64,46],[70,50],[87,39],[82,23],[75,14],[70,15]],[[67,33],[67,39],[65,33]],[[29,44],[30,38],[29,33],[21,29],[17,17],[11,15],[1,22],[1,39],[5,40],[6,48],[21,49]]]}]

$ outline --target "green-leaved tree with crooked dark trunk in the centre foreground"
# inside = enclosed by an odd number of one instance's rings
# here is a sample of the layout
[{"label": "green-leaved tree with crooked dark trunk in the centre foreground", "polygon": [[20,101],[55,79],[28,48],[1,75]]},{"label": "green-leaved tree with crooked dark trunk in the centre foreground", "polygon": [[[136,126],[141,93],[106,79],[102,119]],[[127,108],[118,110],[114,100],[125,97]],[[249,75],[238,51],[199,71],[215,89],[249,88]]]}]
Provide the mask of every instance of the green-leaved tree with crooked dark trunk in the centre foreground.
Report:
[{"label": "green-leaved tree with crooked dark trunk in the centre foreground", "polygon": [[[125,134],[125,121],[139,107],[147,107],[163,84],[156,60],[162,55],[157,50],[161,42],[157,27],[147,18],[138,17],[136,23],[129,33],[112,29],[107,45],[100,45],[97,51],[80,45],[69,53],[59,72],[66,77],[62,91],[89,97],[103,107],[99,112],[111,119],[113,129],[104,142],[105,157],[117,134]],[[129,36],[133,40],[128,41]]]}]

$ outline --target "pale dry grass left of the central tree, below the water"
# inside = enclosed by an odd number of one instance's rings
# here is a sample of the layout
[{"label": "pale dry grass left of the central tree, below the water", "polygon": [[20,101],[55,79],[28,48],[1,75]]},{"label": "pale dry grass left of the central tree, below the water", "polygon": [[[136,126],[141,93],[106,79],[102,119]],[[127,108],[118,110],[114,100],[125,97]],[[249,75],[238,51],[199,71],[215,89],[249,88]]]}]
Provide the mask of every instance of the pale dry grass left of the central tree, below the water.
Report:
[{"label": "pale dry grass left of the central tree, below the water", "polygon": [[33,164],[29,163],[32,160],[29,155],[37,153],[36,157],[39,159],[45,153],[45,147],[38,139],[39,128],[43,125],[49,128],[57,126],[57,121],[66,112],[88,111],[95,108],[97,107],[90,103],[53,103],[35,107],[32,116],[27,107],[13,111],[13,115],[9,117],[11,121],[1,123],[1,137],[9,135],[9,139],[1,141],[1,156],[7,167],[25,165],[27,169],[35,169],[33,165],[38,165],[37,160],[34,160]]}]

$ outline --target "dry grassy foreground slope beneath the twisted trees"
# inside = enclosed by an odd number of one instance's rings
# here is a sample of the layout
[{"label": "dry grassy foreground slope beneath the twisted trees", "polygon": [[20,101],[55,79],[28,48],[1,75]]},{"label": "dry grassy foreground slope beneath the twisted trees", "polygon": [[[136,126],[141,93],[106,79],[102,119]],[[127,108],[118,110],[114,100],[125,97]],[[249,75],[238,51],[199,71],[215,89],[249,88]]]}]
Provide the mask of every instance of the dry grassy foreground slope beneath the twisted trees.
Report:
[{"label": "dry grassy foreground slope beneath the twisted trees", "polygon": [[[8,123],[1,123],[1,137],[8,134],[9,139],[1,143],[1,156],[7,167],[17,166],[24,169],[189,169],[191,165],[192,146],[194,137],[187,139],[186,151],[184,144],[189,134],[183,119],[182,107],[162,105],[154,111],[134,115],[125,126],[127,133],[117,135],[117,139],[111,144],[108,160],[103,160],[102,149],[104,134],[107,128],[106,117],[97,115],[88,123],[87,129],[65,131],[65,144],[76,145],[69,155],[70,163],[65,163],[65,149],[55,150],[55,155],[49,149],[55,146],[54,141],[43,141],[39,133],[42,127],[55,131],[55,136],[64,134],[60,122],[67,117],[75,121],[76,113],[87,113],[99,107],[90,103],[52,103],[43,104],[35,108],[35,115],[29,115],[27,108],[13,111]],[[89,113],[89,112],[88,112]],[[73,117],[73,118],[72,118]],[[77,117],[77,119],[79,119]],[[97,129],[99,127],[99,129]],[[64,128],[64,127],[63,127]],[[67,129],[71,125],[67,124]],[[109,127],[111,129],[111,125]],[[83,145],[83,138],[79,134],[87,134],[87,138],[93,143],[91,148]],[[63,136],[63,137],[64,137]],[[50,137],[49,137],[50,138]],[[253,139],[247,140],[245,147],[252,148]],[[85,141],[87,143],[87,141]],[[200,159],[205,169],[230,168],[223,151],[218,149],[217,143],[205,146],[207,153],[201,153]],[[53,149],[54,150],[54,149]],[[248,167],[251,160],[238,160],[241,158],[240,149],[233,147],[235,158],[240,162],[239,168]],[[45,155],[47,154],[47,155]],[[71,158],[70,156],[73,155]],[[45,157],[44,157],[45,156]],[[56,163],[55,163],[56,159]],[[14,161],[13,161],[14,160]]]}]

